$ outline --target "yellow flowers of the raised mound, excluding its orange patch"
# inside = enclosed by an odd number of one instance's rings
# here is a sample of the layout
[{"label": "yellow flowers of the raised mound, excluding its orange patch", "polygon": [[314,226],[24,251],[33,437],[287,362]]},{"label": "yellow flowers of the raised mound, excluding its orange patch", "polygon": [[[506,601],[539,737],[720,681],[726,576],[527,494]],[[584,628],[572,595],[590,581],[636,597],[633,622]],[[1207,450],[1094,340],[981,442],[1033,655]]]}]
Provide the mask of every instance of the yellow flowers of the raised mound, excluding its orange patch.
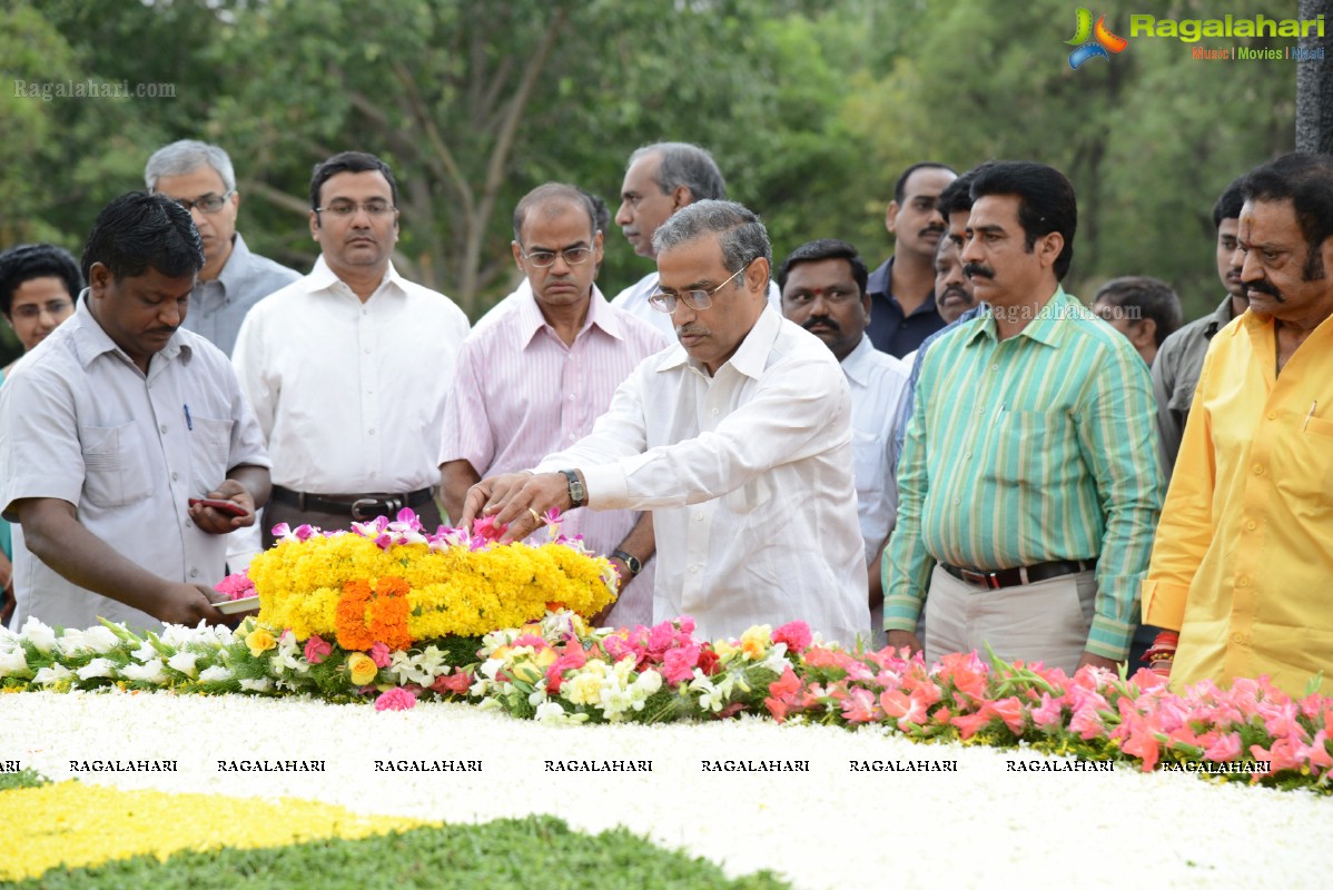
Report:
[{"label": "yellow flowers of the raised mound, excluding its orange patch", "polygon": [[249,568],[260,622],[291,629],[297,640],[335,636],[339,602],[351,581],[403,578],[411,588],[408,632],[423,641],[521,626],[541,618],[548,602],[596,614],[615,600],[609,573],[607,560],[564,544],[383,549],[360,534],[283,541]]}]

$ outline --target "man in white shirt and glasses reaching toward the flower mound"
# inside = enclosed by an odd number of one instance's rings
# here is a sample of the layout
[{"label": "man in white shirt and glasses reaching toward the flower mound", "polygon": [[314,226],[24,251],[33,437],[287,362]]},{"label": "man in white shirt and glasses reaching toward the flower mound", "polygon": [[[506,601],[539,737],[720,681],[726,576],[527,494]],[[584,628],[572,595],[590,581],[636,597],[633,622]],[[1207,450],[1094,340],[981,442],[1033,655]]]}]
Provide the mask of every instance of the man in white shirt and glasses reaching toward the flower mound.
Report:
[{"label": "man in white shirt and glasses reaching toward the flower mound", "polygon": [[653,236],[678,345],[621,384],[592,434],[529,473],[483,480],[483,513],[521,538],[544,510],[649,509],[653,618],[705,637],[806,621],[866,636],[865,553],[852,476],[850,396],[837,360],[766,305],[772,248],[750,211],[698,201]]}]

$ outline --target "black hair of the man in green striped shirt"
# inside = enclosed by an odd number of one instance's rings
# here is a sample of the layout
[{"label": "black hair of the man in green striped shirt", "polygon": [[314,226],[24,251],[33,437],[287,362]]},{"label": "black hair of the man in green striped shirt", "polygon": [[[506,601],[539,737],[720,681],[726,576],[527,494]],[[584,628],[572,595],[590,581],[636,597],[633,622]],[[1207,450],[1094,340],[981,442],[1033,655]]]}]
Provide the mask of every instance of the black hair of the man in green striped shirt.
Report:
[{"label": "black hair of the man in green striped shirt", "polygon": [[1078,201],[1069,177],[1036,161],[996,161],[972,180],[972,200],[988,195],[1018,199],[1018,224],[1026,236],[1028,252],[1037,238],[1058,232],[1065,246],[1056,257],[1056,280],[1062,281],[1074,258],[1074,232],[1078,229]]}]

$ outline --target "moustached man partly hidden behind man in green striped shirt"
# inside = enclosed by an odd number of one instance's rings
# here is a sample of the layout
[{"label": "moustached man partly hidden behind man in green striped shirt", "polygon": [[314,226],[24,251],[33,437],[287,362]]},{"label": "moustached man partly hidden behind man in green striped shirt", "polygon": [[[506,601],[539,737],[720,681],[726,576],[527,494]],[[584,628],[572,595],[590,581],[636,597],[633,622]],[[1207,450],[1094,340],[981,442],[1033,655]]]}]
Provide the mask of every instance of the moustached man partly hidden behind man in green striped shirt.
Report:
[{"label": "moustached man partly hidden behind man in green striped shirt", "polygon": [[888,645],[882,628],[880,553],[898,514],[893,478],[893,429],[906,396],[908,366],[880,352],[865,334],[870,321],[869,270],[856,248],[837,238],[792,250],[777,272],[782,314],[822,340],[842,364],[852,389],[852,457],[856,506],[865,542],[866,592],[876,649]]}]

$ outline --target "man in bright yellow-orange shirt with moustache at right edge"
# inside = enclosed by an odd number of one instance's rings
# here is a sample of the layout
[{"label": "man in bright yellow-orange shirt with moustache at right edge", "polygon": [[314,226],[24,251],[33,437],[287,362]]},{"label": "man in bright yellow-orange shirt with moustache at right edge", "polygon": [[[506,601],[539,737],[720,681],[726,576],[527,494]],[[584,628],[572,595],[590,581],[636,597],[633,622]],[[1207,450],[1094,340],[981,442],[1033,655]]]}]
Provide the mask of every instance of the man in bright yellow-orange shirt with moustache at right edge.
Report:
[{"label": "man in bright yellow-orange shirt with moustache at right edge", "polygon": [[1213,338],[1144,582],[1172,683],[1333,693],[1333,157],[1246,175],[1249,312]]}]

